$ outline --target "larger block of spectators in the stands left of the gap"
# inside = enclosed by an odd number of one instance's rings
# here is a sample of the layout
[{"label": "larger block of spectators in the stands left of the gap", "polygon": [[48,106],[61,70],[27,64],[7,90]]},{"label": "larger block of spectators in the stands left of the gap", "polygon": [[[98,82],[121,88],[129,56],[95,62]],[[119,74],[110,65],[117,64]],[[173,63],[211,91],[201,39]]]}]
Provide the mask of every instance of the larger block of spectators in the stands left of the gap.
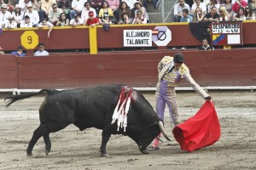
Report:
[{"label": "larger block of spectators in the stands left of the gap", "polygon": [[156,11],[158,1],[0,0],[0,28],[146,24],[148,2]]}]

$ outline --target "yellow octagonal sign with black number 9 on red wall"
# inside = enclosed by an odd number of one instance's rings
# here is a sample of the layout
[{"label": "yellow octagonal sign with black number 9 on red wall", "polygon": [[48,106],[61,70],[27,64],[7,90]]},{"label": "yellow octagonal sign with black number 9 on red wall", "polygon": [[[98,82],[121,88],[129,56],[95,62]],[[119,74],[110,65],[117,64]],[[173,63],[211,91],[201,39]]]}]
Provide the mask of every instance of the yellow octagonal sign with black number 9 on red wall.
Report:
[{"label": "yellow octagonal sign with black number 9 on red wall", "polygon": [[38,46],[38,34],[35,31],[25,31],[20,37],[21,44],[26,49]]}]

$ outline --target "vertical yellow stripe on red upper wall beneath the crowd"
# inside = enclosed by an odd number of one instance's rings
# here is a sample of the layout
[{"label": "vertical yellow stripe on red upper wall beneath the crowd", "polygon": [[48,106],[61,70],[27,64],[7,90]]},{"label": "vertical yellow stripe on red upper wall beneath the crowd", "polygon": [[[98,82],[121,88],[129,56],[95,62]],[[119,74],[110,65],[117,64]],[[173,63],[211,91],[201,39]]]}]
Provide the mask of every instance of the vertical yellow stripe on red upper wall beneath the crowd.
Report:
[{"label": "vertical yellow stripe on red upper wall beneath the crowd", "polygon": [[97,26],[89,26],[90,54],[98,54]]}]

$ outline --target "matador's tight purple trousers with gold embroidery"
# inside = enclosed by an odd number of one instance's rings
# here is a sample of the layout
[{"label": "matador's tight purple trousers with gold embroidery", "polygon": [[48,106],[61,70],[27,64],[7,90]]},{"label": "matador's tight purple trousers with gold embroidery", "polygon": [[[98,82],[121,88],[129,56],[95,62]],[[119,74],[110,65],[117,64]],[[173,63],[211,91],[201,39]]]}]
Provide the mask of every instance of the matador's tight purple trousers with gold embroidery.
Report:
[{"label": "matador's tight purple trousers with gold embroidery", "polygon": [[[166,104],[169,108],[170,117],[174,126],[180,123],[178,113],[177,113],[177,97],[175,88],[170,85],[170,82],[161,80],[156,88],[155,102],[156,102],[156,113],[160,120],[164,122]],[[158,146],[158,139],[154,139],[153,146]]]}]

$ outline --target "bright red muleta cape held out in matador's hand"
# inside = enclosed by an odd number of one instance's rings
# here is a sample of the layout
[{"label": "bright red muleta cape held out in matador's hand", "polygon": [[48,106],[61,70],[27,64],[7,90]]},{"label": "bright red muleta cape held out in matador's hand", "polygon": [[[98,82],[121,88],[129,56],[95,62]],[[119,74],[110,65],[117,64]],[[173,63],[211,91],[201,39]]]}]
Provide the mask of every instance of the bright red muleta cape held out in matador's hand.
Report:
[{"label": "bright red muleta cape held out in matador's hand", "polygon": [[181,149],[189,152],[218,141],[220,126],[213,102],[207,100],[195,116],[174,127],[172,133]]}]

